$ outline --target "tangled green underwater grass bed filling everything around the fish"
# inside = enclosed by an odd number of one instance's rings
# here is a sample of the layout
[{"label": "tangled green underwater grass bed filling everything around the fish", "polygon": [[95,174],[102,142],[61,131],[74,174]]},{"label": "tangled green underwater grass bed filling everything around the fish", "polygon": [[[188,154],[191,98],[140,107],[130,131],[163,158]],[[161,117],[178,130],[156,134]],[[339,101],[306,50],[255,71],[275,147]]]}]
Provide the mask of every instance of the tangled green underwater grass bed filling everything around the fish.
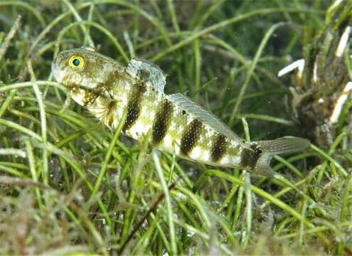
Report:
[{"label": "tangled green underwater grass bed filling everything around the fish", "polygon": [[[1,255],[351,255],[352,3],[0,1]],[[55,82],[62,50],[151,60],[277,176],[121,136]]]}]

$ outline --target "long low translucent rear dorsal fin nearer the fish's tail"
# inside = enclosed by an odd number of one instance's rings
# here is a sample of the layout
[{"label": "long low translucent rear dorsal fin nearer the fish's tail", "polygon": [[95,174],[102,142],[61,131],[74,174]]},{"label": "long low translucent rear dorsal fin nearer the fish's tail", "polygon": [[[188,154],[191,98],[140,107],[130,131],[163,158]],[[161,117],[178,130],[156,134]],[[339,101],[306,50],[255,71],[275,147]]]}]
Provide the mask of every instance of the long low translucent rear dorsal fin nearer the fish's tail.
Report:
[{"label": "long low translucent rear dorsal fin nearer the fish's tail", "polygon": [[238,137],[235,132],[233,132],[230,127],[224,124],[218,117],[216,117],[213,113],[208,112],[200,105],[196,104],[195,102],[191,101],[188,97],[181,95],[181,93],[175,93],[173,95],[168,95],[169,100],[171,102],[176,103],[184,110],[193,114],[197,119],[200,119],[204,122],[204,124],[208,124],[212,127],[215,132],[223,134],[223,136],[227,137],[230,140],[235,140],[242,144],[242,139]]}]

